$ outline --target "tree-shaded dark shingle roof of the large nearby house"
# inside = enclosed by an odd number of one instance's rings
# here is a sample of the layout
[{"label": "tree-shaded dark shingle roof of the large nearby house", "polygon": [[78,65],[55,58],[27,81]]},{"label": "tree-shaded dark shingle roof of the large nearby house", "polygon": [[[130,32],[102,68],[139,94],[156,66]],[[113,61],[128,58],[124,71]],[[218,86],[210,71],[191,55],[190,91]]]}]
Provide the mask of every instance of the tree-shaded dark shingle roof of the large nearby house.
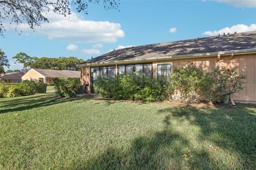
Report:
[{"label": "tree-shaded dark shingle roof of the large nearby house", "polygon": [[78,65],[164,60],[181,56],[209,56],[216,55],[215,53],[218,52],[236,51],[238,53],[248,49],[256,50],[256,31],[128,47],[114,50]]}]

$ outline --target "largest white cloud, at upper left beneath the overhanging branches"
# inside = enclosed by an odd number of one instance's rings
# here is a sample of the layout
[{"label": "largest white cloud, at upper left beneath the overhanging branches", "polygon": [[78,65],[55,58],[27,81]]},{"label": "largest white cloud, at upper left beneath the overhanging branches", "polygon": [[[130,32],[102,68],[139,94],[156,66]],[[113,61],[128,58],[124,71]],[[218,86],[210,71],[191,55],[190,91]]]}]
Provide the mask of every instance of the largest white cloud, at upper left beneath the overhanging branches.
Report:
[{"label": "largest white cloud, at upper left beneath the overhanging branches", "polygon": [[[124,37],[121,24],[109,21],[88,21],[80,19],[72,12],[67,17],[49,12],[46,15],[49,23],[43,22],[41,27],[31,30],[26,23],[18,25],[17,29],[23,33],[37,33],[49,39],[57,39],[75,43],[114,43],[117,38]],[[7,31],[14,31],[15,25],[5,23]]]}]

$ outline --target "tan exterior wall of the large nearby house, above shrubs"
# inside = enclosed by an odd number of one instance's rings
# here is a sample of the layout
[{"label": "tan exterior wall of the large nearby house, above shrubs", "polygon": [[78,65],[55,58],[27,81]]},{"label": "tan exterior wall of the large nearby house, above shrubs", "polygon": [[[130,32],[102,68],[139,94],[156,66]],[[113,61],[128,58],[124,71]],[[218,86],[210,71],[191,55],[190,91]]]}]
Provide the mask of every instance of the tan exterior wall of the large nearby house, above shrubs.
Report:
[{"label": "tan exterior wall of the large nearby house, above shrubs", "polygon": [[[186,58],[178,60],[159,60],[152,61],[153,63],[153,77],[157,77],[157,63],[172,63],[173,69],[179,66],[185,66],[193,62],[197,67],[211,70],[212,67],[226,66],[237,67],[238,72],[246,76],[244,81],[244,89],[233,95],[234,100],[247,101],[251,103],[256,102],[256,54],[244,54],[235,56],[218,56],[214,57],[198,57]],[[116,65],[117,67],[117,65]],[[117,71],[116,71],[117,72]],[[90,66],[81,67],[81,82],[90,82]],[[90,86],[89,86],[90,87]],[[88,89],[90,92],[90,88]]]}]

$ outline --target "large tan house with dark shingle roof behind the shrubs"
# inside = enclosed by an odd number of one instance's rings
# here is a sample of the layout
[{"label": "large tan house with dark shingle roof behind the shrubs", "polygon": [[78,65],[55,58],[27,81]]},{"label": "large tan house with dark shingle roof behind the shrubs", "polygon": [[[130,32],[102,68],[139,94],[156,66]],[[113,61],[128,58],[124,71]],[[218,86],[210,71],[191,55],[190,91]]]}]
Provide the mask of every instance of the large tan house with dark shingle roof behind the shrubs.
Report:
[{"label": "large tan house with dark shingle roof behind the shrubs", "polygon": [[193,62],[197,67],[237,67],[246,76],[244,89],[235,100],[256,102],[256,31],[195,38],[169,43],[135,46],[114,50],[79,64],[87,92],[97,77],[137,72],[158,79],[175,67]]}]

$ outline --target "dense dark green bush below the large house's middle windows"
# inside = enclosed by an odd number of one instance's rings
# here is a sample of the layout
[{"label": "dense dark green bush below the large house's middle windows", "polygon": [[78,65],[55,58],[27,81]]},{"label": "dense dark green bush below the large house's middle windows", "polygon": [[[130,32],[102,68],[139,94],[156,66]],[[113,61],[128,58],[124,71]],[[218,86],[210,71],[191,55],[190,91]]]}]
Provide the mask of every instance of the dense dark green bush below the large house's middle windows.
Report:
[{"label": "dense dark green bush below the large house's middle windows", "polygon": [[115,78],[99,78],[93,84],[95,94],[104,98],[123,100],[163,100],[161,83],[152,77],[135,73],[120,74]]}]

